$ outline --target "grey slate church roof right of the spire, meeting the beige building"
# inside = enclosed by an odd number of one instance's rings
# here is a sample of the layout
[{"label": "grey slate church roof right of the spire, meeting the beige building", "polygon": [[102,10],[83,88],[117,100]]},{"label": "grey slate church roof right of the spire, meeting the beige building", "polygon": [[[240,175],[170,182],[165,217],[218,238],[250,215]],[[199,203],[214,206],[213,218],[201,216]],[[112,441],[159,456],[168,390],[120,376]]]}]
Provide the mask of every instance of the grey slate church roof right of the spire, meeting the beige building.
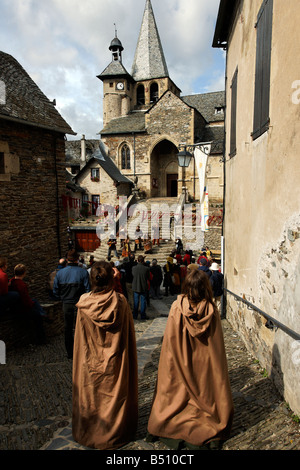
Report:
[{"label": "grey slate church roof right of the spire, meeting the beige building", "polygon": [[224,114],[215,114],[215,109],[225,107],[225,91],[182,96],[181,99],[196,108],[206,122],[224,121]]}]

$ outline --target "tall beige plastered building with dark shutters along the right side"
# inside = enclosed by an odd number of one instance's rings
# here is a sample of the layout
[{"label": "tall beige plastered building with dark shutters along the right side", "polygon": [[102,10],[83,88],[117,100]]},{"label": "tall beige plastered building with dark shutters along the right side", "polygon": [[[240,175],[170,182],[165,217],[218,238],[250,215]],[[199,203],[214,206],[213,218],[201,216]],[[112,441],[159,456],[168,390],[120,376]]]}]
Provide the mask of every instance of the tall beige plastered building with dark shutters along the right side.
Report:
[{"label": "tall beige plastered building with dark shutters along the right side", "polygon": [[298,12],[221,0],[213,45],[227,50],[227,316],[299,415]]}]

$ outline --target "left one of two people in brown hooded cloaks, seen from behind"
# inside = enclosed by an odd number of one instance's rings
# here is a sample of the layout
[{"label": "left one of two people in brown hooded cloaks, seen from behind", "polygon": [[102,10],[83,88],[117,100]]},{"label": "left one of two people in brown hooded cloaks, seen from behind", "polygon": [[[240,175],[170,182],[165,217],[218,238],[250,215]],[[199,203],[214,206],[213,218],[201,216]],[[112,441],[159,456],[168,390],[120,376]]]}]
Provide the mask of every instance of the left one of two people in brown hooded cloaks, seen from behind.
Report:
[{"label": "left one of two people in brown hooded cloaks, seen from behind", "polygon": [[137,351],[132,313],[113,289],[110,263],[91,269],[74,336],[72,432],[75,441],[116,449],[134,439],[138,419]]}]

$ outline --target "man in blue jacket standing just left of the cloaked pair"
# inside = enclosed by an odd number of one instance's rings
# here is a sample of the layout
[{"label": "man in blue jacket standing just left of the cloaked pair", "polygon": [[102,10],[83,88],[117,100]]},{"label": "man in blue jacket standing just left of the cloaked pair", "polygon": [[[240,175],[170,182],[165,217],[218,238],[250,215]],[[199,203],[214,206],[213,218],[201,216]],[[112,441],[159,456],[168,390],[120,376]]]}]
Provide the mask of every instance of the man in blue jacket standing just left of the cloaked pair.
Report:
[{"label": "man in blue jacket standing just left of the cloaked pair", "polygon": [[57,272],[53,283],[53,294],[62,300],[65,319],[65,346],[68,358],[73,357],[73,327],[76,304],[82,294],[90,291],[89,275],[86,269],[78,266],[79,255],[70,250],[68,265]]}]

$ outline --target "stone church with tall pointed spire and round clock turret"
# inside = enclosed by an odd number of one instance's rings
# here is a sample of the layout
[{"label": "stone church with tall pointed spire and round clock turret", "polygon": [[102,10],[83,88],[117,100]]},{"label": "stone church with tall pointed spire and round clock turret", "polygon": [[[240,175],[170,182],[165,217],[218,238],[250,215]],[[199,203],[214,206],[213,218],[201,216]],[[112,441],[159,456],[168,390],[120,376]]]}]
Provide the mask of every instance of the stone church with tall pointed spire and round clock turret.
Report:
[{"label": "stone church with tall pointed spire and round clock turret", "polygon": [[[224,92],[181,96],[168,72],[150,0],[146,1],[131,73],[123,65],[124,48],[117,33],[109,50],[112,60],[98,75],[103,83],[103,128],[99,134],[107,157],[144,198],[177,198],[187,188],[189,200],[197,201],[195,163],[192,160],[188,168],[179,167],[180,145],[217,142],[208,159],[207,190],[210,202],[222,205]],[[67,142],[67,159],[71,153],[74,157],[74,148]],[[80,149],[78,142],[77,164]],[[101,192],[100,178],[100,203],[105,199]]]}]

